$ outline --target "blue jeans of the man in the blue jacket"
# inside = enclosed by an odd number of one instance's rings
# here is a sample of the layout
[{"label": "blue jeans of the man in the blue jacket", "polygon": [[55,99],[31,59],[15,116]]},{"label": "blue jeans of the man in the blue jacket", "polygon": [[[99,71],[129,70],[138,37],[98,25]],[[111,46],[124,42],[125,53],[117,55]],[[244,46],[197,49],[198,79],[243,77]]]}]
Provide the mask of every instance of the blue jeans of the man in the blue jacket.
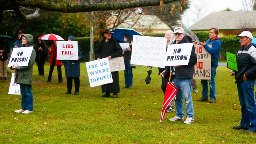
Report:
[{"label": "blue jeans of the man in the blue jacket", "polygon": [[[216,100],[215,94],[215,76],[216,76],[216,68],[211,67],[211,79],[209,80],[210,85],[210,98]],[[206,79],[201,79],[202,85],[202,96],[204,98],[208,98],[208,81]]]}]

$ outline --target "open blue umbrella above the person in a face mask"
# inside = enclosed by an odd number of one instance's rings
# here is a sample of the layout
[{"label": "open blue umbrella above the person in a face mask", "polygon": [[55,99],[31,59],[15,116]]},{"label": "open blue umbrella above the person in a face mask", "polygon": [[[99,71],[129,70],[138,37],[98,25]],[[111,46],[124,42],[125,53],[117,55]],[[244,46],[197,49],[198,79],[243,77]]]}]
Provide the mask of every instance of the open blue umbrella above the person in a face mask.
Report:
[{"label": "open blue umbrella above the person in a face mask", "polygon": [[114,30],[111,30],[111,32],[114,32],[114,33],[112,33],[112,37],[115,37],[120,42],[124,42],[124,35],[129,35],[131,40],[134,35],[142,35],[141,33],[135,31],[132,28],[124,28],[124,27],[116,28]]}]

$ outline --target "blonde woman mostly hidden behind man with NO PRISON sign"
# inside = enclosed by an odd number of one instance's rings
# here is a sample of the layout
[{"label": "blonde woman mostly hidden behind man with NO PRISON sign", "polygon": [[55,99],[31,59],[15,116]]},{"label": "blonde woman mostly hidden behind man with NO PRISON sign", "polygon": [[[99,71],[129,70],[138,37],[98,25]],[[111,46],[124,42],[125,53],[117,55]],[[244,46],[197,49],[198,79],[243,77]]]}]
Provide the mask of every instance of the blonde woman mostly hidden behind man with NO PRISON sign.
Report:
[{"label": "blonde woman mostly hidden behind man with NO PRISON sign", "polygon": [[[169,44],[173,44],[173,41],[174,41],[173,31],[167,30],[165,32],[165,36],[164,37],[167,38],[167,42],[166,42],[166,50],[167,50],[168,45]],[[160,75],[161,72],[163,72],[164,70],[165,70],[165,68],[158,68],[158,75]],[[168,79],[165,79],[162,76],[161,76],[161,79],[162,79],[161,89],[163,91],[163,94],[165,94],[165,90],[166,90]],[[175,109],[174,109],[174,106],[173,106],[173,101],[171,101],[171,103],[166,108],[166,112],[174,112],[174,111],[175,111]]]}]

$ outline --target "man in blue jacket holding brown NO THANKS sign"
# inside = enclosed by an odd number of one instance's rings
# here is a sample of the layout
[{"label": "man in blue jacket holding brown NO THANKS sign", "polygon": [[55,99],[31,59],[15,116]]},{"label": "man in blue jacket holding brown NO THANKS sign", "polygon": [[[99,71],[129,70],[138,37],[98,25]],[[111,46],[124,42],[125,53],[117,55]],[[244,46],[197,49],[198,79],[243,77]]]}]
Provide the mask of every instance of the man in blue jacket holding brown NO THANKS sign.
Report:
[{"label": "man in blue jacket holding brown NO THANKS sign", "polygon": [[[209,37],[206,42],[200,42],[202,46],[204,46],[205,50],[211,54],[211,79],[209,80],[210,85],[210,101],[209,103],[216,102],[216,94],[215,94],[215,76],[216,76],[216,68],[218,67],[218,59],[219,54],[221,52],[221,39],[218,36],[219,29],[211,28]],[[211,48],[208,46],[211,44]],[[206,79],[201,79],[202,84],[202,97],[197,101],[200,102],[208,102],[208,81]]]}]

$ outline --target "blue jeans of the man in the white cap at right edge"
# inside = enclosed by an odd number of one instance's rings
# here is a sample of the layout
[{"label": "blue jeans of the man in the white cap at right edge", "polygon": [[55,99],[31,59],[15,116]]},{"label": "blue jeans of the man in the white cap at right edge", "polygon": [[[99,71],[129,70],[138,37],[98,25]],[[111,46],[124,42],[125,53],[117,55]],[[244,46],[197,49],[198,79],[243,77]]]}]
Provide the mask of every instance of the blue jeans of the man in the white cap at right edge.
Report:
[{"label": "blue jeans of the man in the white cap at right edge", "polygon": [[[254,99],[254,81],[243,80],[237,84],[242,118],[240,126],[256,130],[256,104]],[[250,125],[251,124],[251,125]]]}]

